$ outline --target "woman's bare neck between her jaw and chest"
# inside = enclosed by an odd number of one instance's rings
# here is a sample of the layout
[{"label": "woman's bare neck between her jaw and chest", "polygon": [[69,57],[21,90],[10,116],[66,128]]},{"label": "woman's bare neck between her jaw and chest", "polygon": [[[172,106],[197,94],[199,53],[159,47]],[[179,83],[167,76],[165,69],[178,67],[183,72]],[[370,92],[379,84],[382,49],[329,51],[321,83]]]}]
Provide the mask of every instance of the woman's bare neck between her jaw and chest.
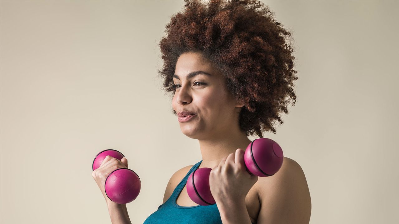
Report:
[{"label": "woman's bare neck between her jaw and chest", "polygon": [[215,136],[213,139],[202,139],[199,141],[201,149],[202,162],[199,168],[215,168],[220,161],[226,158],[230,153],[235,153],[239,148],[247,149],[252,141],[243,132]]}]

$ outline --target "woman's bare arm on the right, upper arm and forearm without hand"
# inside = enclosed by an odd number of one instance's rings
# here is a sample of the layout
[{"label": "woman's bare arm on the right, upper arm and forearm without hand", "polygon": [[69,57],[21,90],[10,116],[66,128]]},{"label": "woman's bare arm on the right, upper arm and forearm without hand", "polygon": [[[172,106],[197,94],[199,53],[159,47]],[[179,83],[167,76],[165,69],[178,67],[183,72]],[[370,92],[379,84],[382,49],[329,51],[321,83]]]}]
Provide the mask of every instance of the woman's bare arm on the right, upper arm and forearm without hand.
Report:
[{"label": "woman's bare arm on the right, upper arm and forearm without hand", "polygon": [[[257,224],[309,224],[311,200],[302,168],[284,157],[280,170],[256,183],[261,208]],[[245,201],[217,205],[223,224],[251,224]]]}]

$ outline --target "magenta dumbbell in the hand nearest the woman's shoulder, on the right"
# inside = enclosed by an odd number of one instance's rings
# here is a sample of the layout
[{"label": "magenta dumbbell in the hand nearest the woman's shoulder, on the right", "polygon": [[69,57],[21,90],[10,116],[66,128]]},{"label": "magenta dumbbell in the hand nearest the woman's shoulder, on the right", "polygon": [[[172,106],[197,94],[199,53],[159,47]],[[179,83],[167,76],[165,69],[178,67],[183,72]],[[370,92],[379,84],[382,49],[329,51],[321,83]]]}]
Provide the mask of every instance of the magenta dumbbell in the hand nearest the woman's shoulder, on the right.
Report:
[{"label": "magenta dumbbell in the hand nearest the woman's shoulder, on the right", "polygon": [[[253,140],[244,153],[245,167],[248,173],[258,177],[269,177],[279,171],[283,160],[282,149],[277,142],[269,138]],[[188,196],[199,205],[215,204],[209,187],[211,168],[196,169],[187,179]]]}]

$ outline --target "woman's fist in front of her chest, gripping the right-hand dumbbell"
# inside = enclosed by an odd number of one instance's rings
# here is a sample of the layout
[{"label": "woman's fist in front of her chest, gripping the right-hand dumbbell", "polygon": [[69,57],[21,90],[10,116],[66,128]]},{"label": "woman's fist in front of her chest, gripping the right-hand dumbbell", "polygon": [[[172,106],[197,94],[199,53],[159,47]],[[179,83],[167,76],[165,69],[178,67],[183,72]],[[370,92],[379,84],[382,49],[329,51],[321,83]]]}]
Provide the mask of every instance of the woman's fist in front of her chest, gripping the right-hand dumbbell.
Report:
[{"label": "woman's fist in front of her chest, gripping the right-hand dumbbell", "polygon": [[248,173],[243,149],[237,149],[222,159],[209,174],[209,187],[216,204],[245,203],[245,197],[258,181],[258,176]]}]

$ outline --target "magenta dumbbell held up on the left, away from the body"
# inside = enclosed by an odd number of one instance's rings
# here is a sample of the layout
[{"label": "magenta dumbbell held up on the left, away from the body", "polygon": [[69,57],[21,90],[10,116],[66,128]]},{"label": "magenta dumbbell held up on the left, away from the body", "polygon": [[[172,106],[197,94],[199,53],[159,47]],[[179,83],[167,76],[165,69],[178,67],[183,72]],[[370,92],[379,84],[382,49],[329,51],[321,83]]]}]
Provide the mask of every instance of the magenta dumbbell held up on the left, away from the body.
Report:
[{"label": "magenta dumbbell held up on the left, away from the body", "polygon": [[[110,155],[121,160],[124,155],[115,149],[106,149],[99,152],[93,160],[93,171],[100,167],[101,163]],[[136,172],[127,168],[112,171],[105,180],[105,193],[107,197],[117,204],[132,202],[141,189],[140,178]]]}]

